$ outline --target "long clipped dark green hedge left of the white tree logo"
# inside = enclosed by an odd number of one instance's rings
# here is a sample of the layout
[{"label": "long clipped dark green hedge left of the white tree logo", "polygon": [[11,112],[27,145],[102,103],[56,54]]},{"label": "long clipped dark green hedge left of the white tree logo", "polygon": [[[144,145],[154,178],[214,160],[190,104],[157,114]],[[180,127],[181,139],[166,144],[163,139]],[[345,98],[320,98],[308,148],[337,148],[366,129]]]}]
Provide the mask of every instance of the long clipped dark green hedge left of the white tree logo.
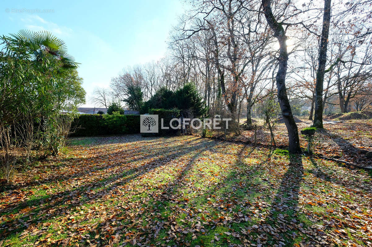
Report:
[{"label": "long clipped dark green hedge left of the white tree logo", "polygon": [[140,115],[83,114],[71,124],[70,136],[140,133]]}]

